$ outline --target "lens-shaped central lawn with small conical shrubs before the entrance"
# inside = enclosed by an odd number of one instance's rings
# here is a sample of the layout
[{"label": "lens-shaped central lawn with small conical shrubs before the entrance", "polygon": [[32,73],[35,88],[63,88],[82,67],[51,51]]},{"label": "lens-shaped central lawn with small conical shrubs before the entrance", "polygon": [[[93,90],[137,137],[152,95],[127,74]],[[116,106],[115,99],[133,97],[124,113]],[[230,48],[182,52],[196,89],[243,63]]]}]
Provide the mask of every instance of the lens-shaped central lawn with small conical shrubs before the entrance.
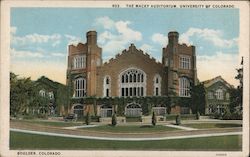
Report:
[{"label": "lens-shaped central lawn with small conical shrubs before the entrance", "polygon": [[101,125],[91,128],[81,128],[84,130],[100,131],[100,132],[114,132],[114,133],[152,133],[152,132],[162,132],[162,131],[173,131],[179,130],[176,128],[171,128],[163,125]]}]

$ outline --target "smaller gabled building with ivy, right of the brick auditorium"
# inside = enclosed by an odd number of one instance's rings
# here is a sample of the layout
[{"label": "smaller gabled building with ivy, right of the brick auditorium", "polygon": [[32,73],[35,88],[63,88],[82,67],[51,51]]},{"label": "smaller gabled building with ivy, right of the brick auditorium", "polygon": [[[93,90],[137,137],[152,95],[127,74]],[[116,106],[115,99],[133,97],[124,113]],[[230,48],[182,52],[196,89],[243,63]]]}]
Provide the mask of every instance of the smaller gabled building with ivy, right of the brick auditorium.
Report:
[{"label": "smaller gabled building with ivy, right of the brick auditorium", "polygon": [[232,85],[221,76],[204,81],[206,91],[205,114],[223,114],[230,104],[230,92]]}]

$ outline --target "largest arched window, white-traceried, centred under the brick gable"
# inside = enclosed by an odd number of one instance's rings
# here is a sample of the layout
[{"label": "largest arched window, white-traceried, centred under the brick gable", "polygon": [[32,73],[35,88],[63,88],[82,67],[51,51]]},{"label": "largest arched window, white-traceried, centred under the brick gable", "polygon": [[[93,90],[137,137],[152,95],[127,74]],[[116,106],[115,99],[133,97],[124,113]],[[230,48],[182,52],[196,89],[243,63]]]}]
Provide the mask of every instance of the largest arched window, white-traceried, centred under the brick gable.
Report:
[{"label": "largest arched window, white-traceried, centred under the brick gable", "polygon": [[119,75],[120,96],[145,96],[146,74],[136,68],[129,68]]}]

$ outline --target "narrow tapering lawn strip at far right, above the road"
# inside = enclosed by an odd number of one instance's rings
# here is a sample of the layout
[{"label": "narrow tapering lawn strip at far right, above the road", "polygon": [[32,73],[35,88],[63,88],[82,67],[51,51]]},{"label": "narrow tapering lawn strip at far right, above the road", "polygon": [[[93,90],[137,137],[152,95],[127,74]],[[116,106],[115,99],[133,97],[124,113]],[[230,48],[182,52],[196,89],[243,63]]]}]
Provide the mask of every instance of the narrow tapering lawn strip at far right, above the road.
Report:
[{"label": "narrow tapering lawn strip at far right, above the road", "polygon": [[242,127],[242,124],[231,124],[231,123],[193,123],[193,124],[183,124],[182,126],[187,126],[197,129],[208,129],[208,128],[232,128],[232,127]]}]

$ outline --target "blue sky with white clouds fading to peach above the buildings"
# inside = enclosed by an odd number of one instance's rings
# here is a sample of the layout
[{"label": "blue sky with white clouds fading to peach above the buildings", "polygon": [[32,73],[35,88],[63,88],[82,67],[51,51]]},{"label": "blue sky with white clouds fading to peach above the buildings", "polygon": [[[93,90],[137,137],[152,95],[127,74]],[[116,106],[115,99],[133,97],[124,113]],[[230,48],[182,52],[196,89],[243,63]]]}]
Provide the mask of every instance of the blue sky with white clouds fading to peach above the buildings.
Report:
[{"label": "blue sky with white clouds fading to peach above the buildings", "polygon": [[240,66],[238,9],[12,8],[11,71],[35,80],[46,76],[65,84],[67,47],[86,42],[96,30],[103,60],[134,43],[161,61],[170,31],[196,47],[200,81],[221,75],[234,79]]}]

